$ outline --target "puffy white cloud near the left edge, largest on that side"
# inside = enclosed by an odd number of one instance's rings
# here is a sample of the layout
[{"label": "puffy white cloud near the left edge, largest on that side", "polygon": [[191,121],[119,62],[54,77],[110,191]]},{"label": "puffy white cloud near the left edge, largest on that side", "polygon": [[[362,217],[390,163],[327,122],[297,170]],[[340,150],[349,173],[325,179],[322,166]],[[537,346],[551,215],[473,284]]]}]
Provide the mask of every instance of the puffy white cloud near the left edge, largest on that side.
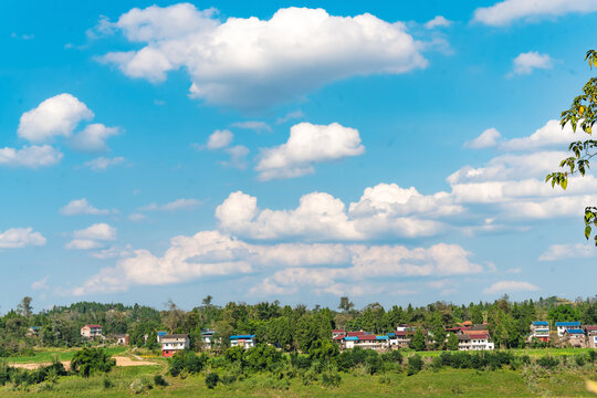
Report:
[{"label": "puffy white cloud near the left edge, largest on that side", "polygon": [[59,94],[25,112],[19,123],[19,137],[42,143],[54,136],[70,137],[81,121],[93,118],[93,112],[71,94]]}]

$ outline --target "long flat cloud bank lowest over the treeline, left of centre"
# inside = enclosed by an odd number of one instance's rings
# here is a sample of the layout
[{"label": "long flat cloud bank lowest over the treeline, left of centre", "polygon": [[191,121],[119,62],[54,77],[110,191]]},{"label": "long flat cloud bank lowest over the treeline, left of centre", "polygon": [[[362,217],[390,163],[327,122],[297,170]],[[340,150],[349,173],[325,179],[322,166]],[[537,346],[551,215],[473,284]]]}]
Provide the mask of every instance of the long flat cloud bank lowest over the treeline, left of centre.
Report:
[{"label": "long flat cloud bank lowest over the treeline, left of centre", "polygon": [[[136,250],[105,268],[74,291],[74,294],[125,291],[134,285],[163,285],[214,275],[250,274],[281,266],[264,283],[274,293],[297,286],[328,291],[342,284],[375,277],[460,275],[482,272],[470,261],[471,253],[459,245],[430,248],[366,247],[344,244],[279,243],[250,244],[217,231],[193,237],[175,237],[163,256]],[[352,281],[352,282],[350,282]],[[277,290],[276,290],[277,289]]]}]

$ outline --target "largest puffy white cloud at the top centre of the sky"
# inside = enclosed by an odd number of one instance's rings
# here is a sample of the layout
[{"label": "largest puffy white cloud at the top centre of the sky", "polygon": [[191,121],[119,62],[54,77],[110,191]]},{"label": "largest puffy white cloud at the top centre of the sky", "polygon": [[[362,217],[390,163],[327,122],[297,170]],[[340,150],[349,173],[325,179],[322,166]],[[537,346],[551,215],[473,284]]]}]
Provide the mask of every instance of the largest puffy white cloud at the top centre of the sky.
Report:
[{"label": "largest puffy white cloud at the top centre of the sky", "polygon": [[423,69],[421,43],[401,22],[371,14],[333,17],[323,9],[280,9],[270,20],[229,18],[192,4],[133,9],[113,24],[138,51],[100,60],[130,77],[160,82],[185,69],[191,95],[209,104],[259,108],[355,75]]}]

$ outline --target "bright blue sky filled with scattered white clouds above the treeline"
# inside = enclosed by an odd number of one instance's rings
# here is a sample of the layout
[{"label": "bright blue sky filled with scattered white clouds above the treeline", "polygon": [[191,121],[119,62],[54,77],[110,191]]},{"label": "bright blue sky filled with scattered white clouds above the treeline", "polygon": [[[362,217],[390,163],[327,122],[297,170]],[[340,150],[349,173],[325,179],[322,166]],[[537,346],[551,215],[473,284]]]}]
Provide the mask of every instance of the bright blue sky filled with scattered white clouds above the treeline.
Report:
[{"label": "bright blue sky filled with scattered white clouds above the treeline", "polygon": [[593,296],[544,184],[597,1],[0,4],[0,313]]}]

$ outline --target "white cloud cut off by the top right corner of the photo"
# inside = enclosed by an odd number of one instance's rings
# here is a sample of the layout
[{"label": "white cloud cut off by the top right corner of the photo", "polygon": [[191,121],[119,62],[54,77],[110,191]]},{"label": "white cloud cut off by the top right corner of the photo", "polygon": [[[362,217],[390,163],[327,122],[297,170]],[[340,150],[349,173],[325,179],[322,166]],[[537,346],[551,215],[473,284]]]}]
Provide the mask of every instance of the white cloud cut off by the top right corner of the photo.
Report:
[{"label": "white cloud cut off by the top right corner of the photo", "polygon": [[505,0],[474,10],[473,21],[492,27],[507,25],[517,20],[540,20],[567,13],[597,11],[594,0]]}]

